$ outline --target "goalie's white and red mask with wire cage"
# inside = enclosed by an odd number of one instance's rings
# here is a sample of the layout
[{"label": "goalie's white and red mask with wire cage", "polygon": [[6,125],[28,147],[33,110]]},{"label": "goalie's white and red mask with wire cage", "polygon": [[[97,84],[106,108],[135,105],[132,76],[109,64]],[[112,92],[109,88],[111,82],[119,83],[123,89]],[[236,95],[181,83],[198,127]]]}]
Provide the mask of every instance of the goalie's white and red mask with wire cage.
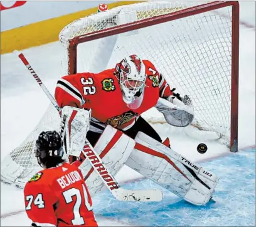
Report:
[{"label": "goalie's white and red mask with wire cage", "polygon": [[115,75],[119,78],[122,98],[127,107],[136,109],[141,106],[144,97],[146,69],[137,55],[125,57],[115,66]]}]

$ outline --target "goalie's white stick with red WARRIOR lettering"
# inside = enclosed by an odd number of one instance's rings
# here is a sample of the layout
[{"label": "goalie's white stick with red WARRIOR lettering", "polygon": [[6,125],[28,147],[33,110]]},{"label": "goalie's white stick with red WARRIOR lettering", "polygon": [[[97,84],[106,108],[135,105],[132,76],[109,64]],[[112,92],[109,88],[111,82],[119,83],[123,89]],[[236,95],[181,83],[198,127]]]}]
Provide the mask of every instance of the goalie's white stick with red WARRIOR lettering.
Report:
[{"label": "goalie's white stick with red WARRIOR lettering", "polygon": [[[40,87],[43,89],[43,92],[45,92],[47,97],[50,99],[51,103],[53,103],[56,110],[60,112],[61,108],[58,106],[58,103],[56,102],[55,98],[53,98],[53,96],[45,87],[41,79],[38,77],[38,75],[36,75],[35,70],[33,70],[33,68],[29,65],[28,60],[26,60],[23,53],[20,53],[18,56],[21,59],[21,61],[24,63],[26,68],[28,68],[30,73],[33,75],[36,82],[38,82]],[[92,145],[90,145],[90,142],[88,142],[88,140],[85,141],[85,145],[83,146],[82,152],[85,155],[86,159],[92,165],[93,169],[97,171],[102,181],[104,182],[105,186],[107,186],[109,191],[112,193],[112,195],[116,199],[120,201],[149,201],[149,202],[161,201],[163,199],[163,193],[161,190],[155,190],[155,189],[127,190],[120,187],[118,182],[115,180],[114,176],[110,174],[104,162],[99,157],[99,155],[95,152],[95,150],[93,149]],[[97,158],[98,160],[97,162],[95,162],[95,158]],[[91,159],[93,159],[94,161],[92,162]]]}]

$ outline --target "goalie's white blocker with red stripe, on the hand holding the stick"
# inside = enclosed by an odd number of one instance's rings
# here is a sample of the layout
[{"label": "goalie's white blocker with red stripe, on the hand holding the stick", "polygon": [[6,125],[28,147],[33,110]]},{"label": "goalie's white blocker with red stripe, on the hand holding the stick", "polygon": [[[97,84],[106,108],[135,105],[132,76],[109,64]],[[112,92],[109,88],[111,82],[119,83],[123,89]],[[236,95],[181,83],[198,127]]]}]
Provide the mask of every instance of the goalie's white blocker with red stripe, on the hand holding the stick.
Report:
[{"label": "goalie's white blocker with red stripe, on the hand holding the stick", "polygon": [[91,110],[65,106],[61,111],[60,135],[63,149],[70,156],[80,156],[90,128]]}]

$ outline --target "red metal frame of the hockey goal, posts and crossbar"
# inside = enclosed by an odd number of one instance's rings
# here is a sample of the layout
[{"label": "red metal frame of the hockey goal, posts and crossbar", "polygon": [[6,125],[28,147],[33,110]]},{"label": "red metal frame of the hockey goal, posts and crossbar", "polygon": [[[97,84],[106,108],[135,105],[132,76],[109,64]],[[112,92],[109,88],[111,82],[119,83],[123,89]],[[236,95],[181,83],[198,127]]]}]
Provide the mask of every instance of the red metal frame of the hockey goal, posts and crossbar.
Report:
[{"label": "red metal frame of the hockey goal, posts and crossbar", "polygon": [[68,55],[68,73],[77,73],[77,46],[79,43],[105,38],[114,34],[125,33],[135,29],[146,28],[155,24],[160,24],[174,19],[186,18],[195,14],[205,13],[215,9],[232,6],[232,72],[231,72],[231,125],[230,125],[230,150],[238,151],[238,70],[239,70],[239,3],[238,1],[215,1],[201,4],[191,8],[182,9],[174,13],[155,16],[133,23],[107,28],[101,31],[76,36],[70,40]]}]

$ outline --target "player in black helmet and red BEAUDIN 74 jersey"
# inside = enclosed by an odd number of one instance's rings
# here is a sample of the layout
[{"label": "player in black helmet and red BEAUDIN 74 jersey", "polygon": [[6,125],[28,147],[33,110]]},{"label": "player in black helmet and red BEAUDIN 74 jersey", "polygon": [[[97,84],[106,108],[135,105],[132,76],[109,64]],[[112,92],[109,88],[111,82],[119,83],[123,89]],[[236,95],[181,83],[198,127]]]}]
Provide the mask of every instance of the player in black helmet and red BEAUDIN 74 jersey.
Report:
[{"label": "player in black helmet and red BEAUDIN 74 jersey", "polygon": [[31,226],[97,226],[90,194],[77,167],[80,161],[64,162],[60,135],[41,132],[35,152],[44,170],[24,187]]}]

